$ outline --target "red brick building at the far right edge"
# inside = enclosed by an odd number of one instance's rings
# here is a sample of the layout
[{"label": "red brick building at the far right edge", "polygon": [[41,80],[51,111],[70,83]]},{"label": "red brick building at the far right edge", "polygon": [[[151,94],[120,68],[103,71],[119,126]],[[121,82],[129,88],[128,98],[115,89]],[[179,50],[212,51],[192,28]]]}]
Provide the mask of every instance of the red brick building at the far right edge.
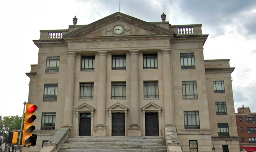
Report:
[{"label": "red brick building at the far right edge", "polygon": [[256,151],[256,113],[249,107],[239,107],[236,113],[237,132],[240,137],[240,148],[247,152]]}]

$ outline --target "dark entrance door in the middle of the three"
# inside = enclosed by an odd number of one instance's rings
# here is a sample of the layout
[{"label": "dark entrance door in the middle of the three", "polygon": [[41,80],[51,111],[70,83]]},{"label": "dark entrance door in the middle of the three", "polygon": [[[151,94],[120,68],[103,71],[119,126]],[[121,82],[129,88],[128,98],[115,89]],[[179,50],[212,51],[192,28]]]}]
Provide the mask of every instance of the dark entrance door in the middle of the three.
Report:
[{"label": "dark entrance door in the middle of the three", "polygon": [[124,113],[112,113],[112,136],[124,136]]}]

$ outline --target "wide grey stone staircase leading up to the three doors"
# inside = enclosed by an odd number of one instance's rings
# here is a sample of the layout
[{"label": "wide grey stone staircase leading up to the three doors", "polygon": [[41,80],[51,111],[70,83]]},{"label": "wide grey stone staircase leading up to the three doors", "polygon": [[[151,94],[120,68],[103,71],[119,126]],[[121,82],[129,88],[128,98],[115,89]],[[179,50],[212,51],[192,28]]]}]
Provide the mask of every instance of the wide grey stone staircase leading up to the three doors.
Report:
[{"label": "wide grey stone staircase leading up to the three doors", "polygon": [[59,152],[167,152],[163,137],[68,137]]}]

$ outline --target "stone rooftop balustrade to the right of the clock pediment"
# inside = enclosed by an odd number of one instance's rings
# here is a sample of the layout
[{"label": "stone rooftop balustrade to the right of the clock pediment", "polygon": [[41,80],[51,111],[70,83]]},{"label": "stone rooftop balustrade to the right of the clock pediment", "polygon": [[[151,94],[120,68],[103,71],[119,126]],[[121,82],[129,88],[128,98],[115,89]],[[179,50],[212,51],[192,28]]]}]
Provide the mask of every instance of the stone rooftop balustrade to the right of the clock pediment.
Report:
[{"label": "stone rooftop balustrade to the right of the clock pediment", "polygon": [[191,25],[172,25],[171,31],[174,31],[177,36],[180,35],[201,35],[202,24],[191,24]]}]

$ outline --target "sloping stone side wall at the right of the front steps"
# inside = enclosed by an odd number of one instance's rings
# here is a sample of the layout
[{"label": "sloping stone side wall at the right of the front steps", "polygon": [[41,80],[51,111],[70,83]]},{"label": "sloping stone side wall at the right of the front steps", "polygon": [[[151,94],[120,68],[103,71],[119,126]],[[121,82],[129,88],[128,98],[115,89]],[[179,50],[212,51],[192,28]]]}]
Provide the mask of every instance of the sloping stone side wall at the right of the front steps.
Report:
[{"label": "sloping stone side wall at the right of the front steps", "polygon": [[173,124],[164,125],[164,136],[167,145],[167,151],[182,152],[176,128]]}]

